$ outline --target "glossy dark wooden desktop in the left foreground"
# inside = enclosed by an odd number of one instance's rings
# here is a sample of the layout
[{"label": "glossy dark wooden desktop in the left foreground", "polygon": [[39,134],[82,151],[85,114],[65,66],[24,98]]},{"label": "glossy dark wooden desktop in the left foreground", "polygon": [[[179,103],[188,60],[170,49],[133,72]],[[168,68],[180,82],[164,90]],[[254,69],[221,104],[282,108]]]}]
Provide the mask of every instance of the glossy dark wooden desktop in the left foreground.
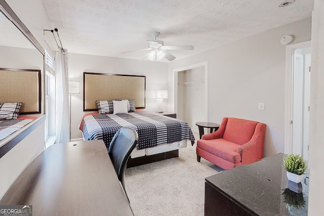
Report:
[{"label": "glossy dark wooden desktop in the left foreground", "polygon": [[102,140],[50,146],[0,205],[32,205],[33,216],[133,215]]}]

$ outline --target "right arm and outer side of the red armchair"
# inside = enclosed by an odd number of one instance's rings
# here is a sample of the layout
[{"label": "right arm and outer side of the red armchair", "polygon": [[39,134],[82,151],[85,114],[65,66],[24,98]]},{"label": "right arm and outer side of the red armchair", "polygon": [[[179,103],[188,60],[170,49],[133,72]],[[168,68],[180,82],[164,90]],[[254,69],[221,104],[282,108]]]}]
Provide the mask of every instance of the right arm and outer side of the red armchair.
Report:
[{"label": "right arm and outer side of the red armchair", "polygon": [[249,164],[262,159],[264,149],[265,124],[258,123],[251,140],[237,148],[241,163]]}]

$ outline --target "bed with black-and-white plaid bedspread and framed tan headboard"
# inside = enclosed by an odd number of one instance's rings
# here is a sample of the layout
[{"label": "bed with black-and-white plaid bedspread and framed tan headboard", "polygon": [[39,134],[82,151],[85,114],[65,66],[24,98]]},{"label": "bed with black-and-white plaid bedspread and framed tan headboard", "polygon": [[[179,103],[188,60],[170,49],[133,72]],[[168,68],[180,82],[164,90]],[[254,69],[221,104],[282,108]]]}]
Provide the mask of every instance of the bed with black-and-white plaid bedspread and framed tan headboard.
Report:
[{"label": "bed with black-and-white plaid bedspread and framed tan headboard", "polygon": [[[128,167],[179,156],[179,149],[193,145],[194,137],[186,121],[145,109],[146,77],[84,72],[84,115],[79,129],[84,140],[102,139],[108,147],[113,135],[122,127],[139,134]],[[128,110],[116,111],[116,101],[128,101]],[[102,103],[102,104],[100,104]],[[103,111],[104,110],[104,111]]]}]

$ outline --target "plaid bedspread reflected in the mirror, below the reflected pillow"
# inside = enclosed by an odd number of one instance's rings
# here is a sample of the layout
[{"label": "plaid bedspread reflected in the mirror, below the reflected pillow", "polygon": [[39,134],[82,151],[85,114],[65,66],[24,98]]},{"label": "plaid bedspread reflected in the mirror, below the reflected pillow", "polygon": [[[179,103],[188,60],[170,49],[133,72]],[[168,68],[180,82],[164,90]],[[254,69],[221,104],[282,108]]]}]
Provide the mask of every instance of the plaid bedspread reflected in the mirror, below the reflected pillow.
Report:
[{"label": "plaid bedspread reflected in the mirror, below the reflected pillow", "polygon": [[33,119],[0,120],[0,141],[15,133]]}]

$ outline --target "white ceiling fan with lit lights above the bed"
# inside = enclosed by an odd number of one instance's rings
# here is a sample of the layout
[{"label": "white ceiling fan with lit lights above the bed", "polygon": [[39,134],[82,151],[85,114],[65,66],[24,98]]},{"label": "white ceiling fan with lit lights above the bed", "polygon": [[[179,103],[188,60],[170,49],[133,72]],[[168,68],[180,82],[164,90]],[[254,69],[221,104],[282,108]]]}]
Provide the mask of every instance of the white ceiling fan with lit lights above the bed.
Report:
[{"label": "white ceiling fan with lit lights above the bed", "polygon": [[[175,60],[176,57],[173,56],[171,53],[169,53],[168,50],[193,50],[194,49],[192,46],[164,45],[164,41],[157,40],[157,37],[159,34],[160,34],[160,32],[152,32],[151,35],[154,38],[154,40],[147,40],[148,48],[142,49],[142,50],[150,50],[151,51],[146,55],[146,58],[148,58],[151,61],[160,61],[163,58],[166,58],[169,61]],[[133,51],[128,51],[128,52],[124,52],[124,53],[142,51],[142,50],[133,50]]]}]

